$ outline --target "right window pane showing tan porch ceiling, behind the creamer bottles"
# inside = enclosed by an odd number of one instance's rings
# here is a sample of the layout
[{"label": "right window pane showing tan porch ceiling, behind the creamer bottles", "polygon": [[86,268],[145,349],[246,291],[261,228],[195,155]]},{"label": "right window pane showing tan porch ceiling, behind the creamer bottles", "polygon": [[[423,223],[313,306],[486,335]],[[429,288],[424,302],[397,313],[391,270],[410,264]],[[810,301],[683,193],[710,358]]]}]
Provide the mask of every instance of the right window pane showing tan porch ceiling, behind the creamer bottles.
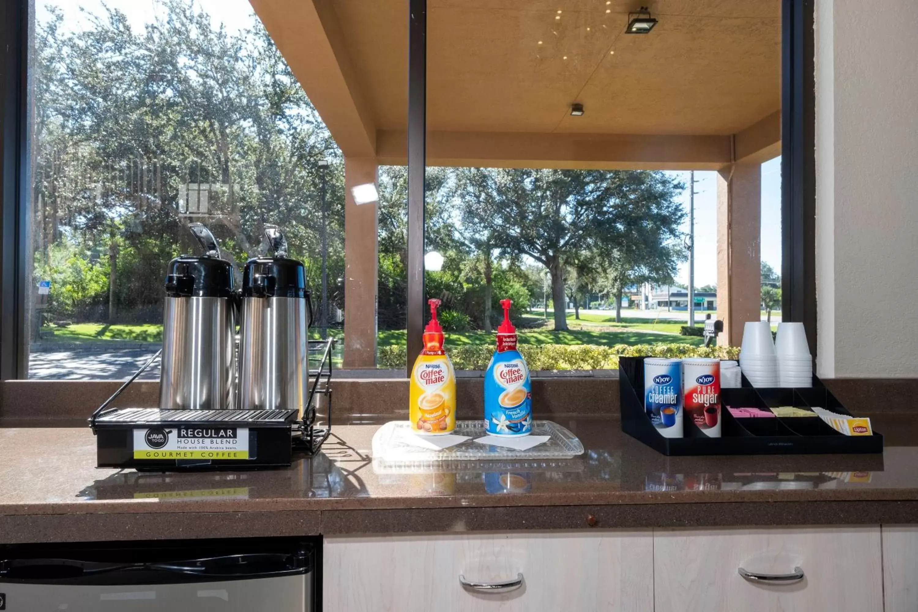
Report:
[{"label": "right window pane showing tan porch ceiling, behind the creamer bottles", "polygon": [[781,3],[652,8],[428,3],[426,293],[458,367],[503,298],[537,370],[778,320]]}]

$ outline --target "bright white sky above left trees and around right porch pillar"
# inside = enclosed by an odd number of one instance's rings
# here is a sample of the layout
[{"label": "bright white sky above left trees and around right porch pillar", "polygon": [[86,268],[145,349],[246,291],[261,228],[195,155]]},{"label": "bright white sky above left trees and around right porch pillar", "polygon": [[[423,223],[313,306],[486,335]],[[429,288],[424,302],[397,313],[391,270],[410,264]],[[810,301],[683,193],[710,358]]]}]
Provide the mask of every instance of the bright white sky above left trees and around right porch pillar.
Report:
[{"label": "bright white sky above left trees and around right porch pillar", "polygon": [[[195,0],[214,22],[222,22],[229,32],[248,28],[255,18],[248,0]],[[370,0],[367,0],[370,1]],[[118,8],[128,17],[132,28],[144,24],[162,12],[161,0],[37,0],[36,17],[47,19],[48,6],[58,6],[64,15],[65,28],[79,29],[84,11],[101,14],[103,5]],[[762,164],[762,261],[775,270],[781,269],[781,175],[780,158]],[[671,172],[687,185],[679,198],[689,212],[689,172]],[[695,285],[717,283],[717,181],[715,172],[695,172]],[[689,231],[688,218],[682,231]],[[689,263],[679,266],[677,281],[689,282]]]}]

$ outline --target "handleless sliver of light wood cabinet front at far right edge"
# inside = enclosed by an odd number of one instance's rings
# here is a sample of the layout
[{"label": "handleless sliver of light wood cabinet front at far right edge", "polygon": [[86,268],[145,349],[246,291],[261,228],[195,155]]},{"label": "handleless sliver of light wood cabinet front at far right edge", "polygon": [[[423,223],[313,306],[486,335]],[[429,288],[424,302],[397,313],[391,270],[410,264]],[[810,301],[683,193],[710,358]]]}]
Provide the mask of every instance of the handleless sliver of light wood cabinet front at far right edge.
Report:
[{"label": "handleless sliver of light wood cabinet front at far right edge", "polygon": [[918,610],[918,526],[883,526],[886,612]]}]

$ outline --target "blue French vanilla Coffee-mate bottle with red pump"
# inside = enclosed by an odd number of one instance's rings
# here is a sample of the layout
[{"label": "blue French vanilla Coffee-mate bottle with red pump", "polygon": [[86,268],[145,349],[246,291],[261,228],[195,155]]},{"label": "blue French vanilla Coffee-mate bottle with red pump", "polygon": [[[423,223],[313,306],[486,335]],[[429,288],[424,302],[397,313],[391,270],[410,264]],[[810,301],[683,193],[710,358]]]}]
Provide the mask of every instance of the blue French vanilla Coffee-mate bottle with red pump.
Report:
[{"label": "blue French vanilla Coffee-mate bottle with red pump", "polygon": [[516,328],[510,323],[510,300],[500,300],[504,321],[498,327],[498,350],[485,373],[485,420],[492,436],[532,433],[532,383],[529,368],[517,351]]}]

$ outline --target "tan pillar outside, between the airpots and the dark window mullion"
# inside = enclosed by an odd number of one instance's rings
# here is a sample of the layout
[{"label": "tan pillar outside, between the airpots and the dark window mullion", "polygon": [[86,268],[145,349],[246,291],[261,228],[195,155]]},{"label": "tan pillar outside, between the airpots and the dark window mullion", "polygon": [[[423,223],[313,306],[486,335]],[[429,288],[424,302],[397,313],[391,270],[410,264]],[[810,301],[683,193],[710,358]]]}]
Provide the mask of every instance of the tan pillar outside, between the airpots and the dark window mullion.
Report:
[{"label": "tan pillar outside, between the airpots and the dark window mullion", "polygon": [[358,205],[351,190],[368,183],[378,188],[377,171],[375,159],[344,160],[345,368],[376,367],[377,203]]}]

